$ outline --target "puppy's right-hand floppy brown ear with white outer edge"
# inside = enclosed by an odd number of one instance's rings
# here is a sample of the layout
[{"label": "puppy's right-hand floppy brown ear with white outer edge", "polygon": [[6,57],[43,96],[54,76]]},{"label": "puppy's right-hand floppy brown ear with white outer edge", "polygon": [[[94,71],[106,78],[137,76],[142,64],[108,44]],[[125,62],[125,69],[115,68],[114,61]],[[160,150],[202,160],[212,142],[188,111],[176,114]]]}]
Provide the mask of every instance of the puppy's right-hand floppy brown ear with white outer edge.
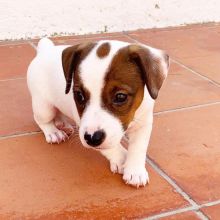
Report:
[{"label": "puppy's right-hand floppy brown ear with white outer edge", "polygon": [[150,96],[156,99],[168,73],[169,56],[144,45],[130,45],[129,54],[139,66]]}]

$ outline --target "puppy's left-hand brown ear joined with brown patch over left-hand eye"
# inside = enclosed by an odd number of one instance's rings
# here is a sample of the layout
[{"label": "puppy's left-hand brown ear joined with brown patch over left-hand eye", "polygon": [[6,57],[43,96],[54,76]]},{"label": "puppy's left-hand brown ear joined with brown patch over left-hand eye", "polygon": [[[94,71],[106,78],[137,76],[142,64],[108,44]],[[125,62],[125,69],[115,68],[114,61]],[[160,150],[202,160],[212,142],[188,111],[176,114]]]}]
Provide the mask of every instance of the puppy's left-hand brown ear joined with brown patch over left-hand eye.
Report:
[{"label": "puppy's left-hand brown ear joined with brown patch over left-hand eye", "polygon": [[65,93],[69,93],[73,80],[73,94],[80,117],[82,116],[86,104],[89,101],[90,94],[81,82],[79,76],[79,66],[82,60],[86,58],[95,45],[96,43],[78,44],[66,48],[62,53],[63,71],[66,78]]}]

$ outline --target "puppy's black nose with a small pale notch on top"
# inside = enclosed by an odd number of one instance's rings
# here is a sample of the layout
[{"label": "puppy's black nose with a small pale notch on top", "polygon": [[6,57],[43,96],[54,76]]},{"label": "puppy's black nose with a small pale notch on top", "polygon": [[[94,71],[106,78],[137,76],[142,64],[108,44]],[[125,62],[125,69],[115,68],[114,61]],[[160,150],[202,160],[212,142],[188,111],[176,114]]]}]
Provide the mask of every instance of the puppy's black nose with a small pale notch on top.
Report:
[{"label": "puppy's black nose with a small pale notch on top", "polygon": [[84,139],[88,145],[92,147],[97,147],[104,141],[105,132],[103,130],[99,130],[96,131],[93,135],[86,132],[84,134]]}]

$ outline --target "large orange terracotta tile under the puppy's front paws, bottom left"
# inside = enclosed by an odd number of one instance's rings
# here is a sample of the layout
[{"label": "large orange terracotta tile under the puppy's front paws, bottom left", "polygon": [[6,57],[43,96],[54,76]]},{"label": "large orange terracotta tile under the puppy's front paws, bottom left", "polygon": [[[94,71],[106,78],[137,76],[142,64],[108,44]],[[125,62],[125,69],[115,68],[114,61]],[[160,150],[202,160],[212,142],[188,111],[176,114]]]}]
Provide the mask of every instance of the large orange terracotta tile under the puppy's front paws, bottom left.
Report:
[{"label": "large orange terracotta tile under the puppy's front paws, bottom left", "polygon": [[0,216],[22,219],[122,219],[187,206],[151,168],[136,189],[112,174],[78,138],[49,145],[42,134],[0,140]]}]

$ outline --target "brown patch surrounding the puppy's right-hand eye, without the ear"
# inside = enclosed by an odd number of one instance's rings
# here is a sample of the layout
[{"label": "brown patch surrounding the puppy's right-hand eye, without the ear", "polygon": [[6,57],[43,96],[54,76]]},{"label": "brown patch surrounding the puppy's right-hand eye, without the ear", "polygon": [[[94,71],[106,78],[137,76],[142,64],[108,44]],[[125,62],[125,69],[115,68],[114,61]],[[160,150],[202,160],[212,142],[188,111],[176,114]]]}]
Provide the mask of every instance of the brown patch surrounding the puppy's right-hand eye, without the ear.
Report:
[{"label": "brown patch surrounding the puppy's right-hand eye, without the ear", "polygon": [[[144,96],[144,80],[140,68],[131,59],[129,47],[119,50],[113,58],[105,77],[102,92],[103,107],[113,113],[122,122],[124,130],[133,120],[135,111],[140,106]],[[127,97],[125,102],[117,99]]]}]

